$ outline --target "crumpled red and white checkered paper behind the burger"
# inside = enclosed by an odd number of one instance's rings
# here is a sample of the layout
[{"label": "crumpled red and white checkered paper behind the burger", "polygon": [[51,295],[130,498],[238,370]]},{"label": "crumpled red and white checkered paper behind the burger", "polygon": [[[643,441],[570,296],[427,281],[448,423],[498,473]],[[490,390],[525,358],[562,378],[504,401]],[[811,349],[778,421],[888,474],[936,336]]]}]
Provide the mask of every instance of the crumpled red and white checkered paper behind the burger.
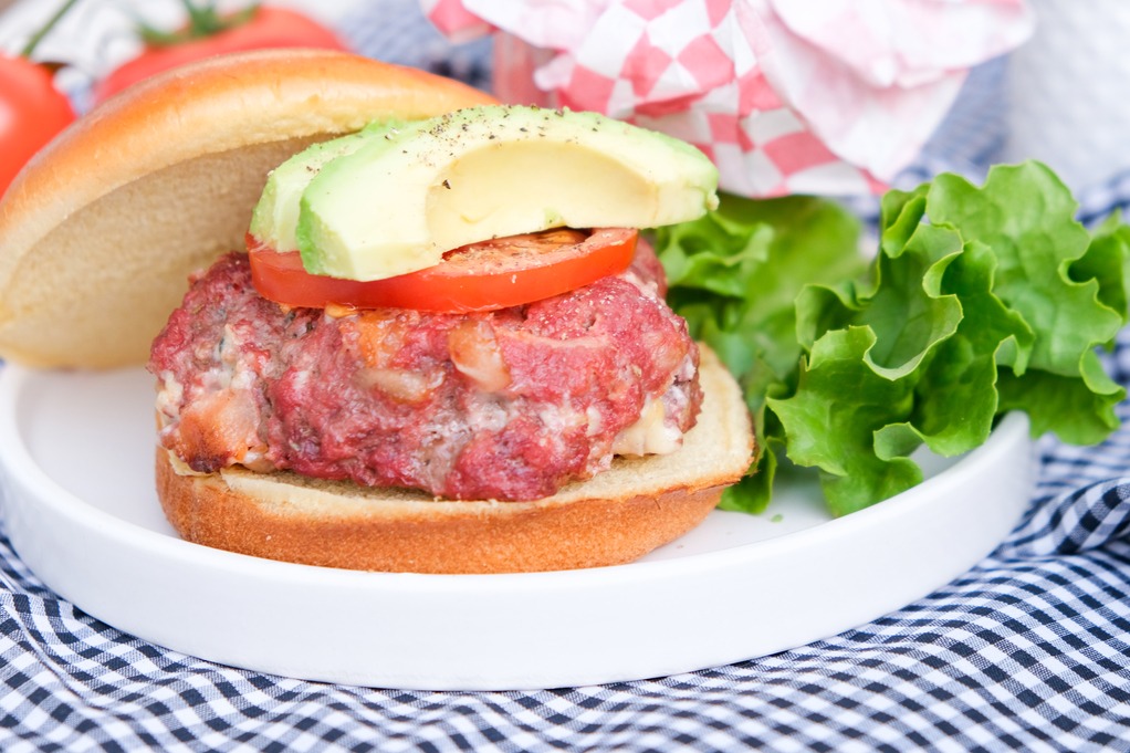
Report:
[{"label": "crumpled red and white checkered paper behind the burger", "polygon": [[1034,26],[1025,0],[421,2],[453,40],[498,31],[532,49],[496,71],[504,98],[671,133],[751,197],[883,190],[968,69]]}]

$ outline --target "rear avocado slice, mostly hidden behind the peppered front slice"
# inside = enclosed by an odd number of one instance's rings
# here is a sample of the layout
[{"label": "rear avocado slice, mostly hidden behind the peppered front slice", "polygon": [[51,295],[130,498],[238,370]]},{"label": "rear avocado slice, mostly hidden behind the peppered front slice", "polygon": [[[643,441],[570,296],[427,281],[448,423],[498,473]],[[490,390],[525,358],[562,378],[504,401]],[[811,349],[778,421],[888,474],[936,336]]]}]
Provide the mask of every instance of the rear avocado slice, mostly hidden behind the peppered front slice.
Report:
[{"label": "rear avocado slice, mostly hidden behind the peppered front slice", "polygon": [[403,126],[399,119],[374,121],[354,133],[312,144],[272,170],[251,215],[251,235],[276,251],[297,251],[298,201],[314,175],[331,159]]}]

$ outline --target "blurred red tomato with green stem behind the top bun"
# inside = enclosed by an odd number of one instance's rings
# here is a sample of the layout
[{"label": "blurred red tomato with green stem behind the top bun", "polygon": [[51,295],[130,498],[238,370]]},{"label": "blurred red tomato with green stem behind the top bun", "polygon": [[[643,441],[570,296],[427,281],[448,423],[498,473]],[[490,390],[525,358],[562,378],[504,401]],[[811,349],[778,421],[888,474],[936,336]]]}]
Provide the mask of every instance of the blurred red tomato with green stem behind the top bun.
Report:
[{"label": "blurred red tomato with green stem behind the top bun", "polygon": [[189,14],[188,26],[171,34],[142,28],[145,49],[95,85],[96,103],[154,73],[226,52],[263,47],[347,49],[333,32],[294,10],[257,5],[220,16],[214,3],[197,6],[183,1]]}]

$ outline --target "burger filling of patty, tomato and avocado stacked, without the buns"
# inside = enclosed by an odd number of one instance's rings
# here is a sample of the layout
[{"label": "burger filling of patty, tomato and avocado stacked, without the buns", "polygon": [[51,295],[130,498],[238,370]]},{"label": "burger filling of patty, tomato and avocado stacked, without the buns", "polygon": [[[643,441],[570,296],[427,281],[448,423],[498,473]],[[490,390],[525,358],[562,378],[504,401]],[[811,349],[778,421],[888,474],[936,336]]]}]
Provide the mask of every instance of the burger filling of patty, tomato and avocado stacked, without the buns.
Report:
[{"label": "burger filling of patty, tomato and avocado stacked, without the buns", "polygon": [[473,107],[315,145],[155,341],[162,444],[185,474],[470,500],[671,452],[698,352],[636,228],[701,216],[715,185],[692,147],[592,113]]}]

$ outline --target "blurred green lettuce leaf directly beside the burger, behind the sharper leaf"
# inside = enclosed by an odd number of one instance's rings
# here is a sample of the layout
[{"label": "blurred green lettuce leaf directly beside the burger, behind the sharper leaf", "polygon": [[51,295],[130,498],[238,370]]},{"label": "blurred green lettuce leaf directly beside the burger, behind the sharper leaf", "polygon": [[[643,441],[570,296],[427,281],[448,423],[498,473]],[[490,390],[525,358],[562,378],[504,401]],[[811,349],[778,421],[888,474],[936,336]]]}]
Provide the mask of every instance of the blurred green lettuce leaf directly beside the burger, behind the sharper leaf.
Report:
[{"label": "blurred green lettuce leaf directly beside the burger, behind the sharper leaf", "polygon": [[831,201],[731,196],[701,219],[655,231],[668,301],[737,375],[763,450],[756,473],[727,490],[723,509],[757,512],[771,499],[783,436],[765,400],[797,379],[802,348],[793,301],[809,283],[862,272],[860,232],[860,222]]}]

